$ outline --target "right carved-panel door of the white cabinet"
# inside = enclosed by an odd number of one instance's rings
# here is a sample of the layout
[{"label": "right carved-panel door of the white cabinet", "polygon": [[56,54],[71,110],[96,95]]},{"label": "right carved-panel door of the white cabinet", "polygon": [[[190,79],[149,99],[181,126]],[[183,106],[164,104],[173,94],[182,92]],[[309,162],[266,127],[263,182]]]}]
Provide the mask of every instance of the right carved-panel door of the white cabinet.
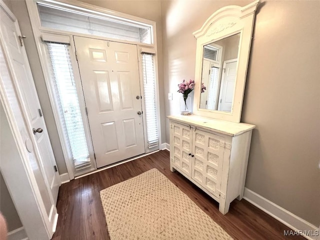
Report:
[{"label": "right carved-panel door of the white cabinet", "polygon": [[224,154],[224,138],[206,131],[193,132],[191,177],[219,197]]}]

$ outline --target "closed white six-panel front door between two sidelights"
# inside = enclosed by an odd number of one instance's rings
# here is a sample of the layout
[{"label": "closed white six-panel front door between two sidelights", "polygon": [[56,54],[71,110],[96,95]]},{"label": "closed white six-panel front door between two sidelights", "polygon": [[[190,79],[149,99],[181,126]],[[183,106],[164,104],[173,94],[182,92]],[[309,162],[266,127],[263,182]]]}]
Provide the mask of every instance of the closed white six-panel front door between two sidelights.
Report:
[{"label": "closed white six-panel front door between two sidelights", "polygon": [[136,45],[74,36],[97,167],[145,152]]}]

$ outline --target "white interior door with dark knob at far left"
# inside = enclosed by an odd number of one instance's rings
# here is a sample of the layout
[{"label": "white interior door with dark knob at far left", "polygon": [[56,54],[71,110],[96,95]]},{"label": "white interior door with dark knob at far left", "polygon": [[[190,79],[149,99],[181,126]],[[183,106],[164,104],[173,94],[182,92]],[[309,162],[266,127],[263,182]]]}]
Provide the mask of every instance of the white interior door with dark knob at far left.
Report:
[{"label": "white interior door with dark knob at far left", "polygon": [[[45,176],[44,180],[50,188],[55,205],[59,185],[61,184],[60,176],[55,166],[55,159],[46,126],[42,114],[39,111],[40,103],[35,90],[26,52],[19,39],[21,32],[16,20],[11,19],[3,9],[1,9],[0,15],[0,32],[3,39],[4,53],[9,63],[26,123],[32,135],[31,140],[33,142],[37,160]],[[38,130],[37,132],[34,132],[33,129]]]}]

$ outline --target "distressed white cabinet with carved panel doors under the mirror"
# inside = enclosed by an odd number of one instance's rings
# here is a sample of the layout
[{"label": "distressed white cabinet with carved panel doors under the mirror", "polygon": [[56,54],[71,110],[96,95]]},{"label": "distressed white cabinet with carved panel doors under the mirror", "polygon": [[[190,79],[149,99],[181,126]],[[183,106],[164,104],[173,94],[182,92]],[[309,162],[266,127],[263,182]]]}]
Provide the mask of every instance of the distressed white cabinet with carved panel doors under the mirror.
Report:
[{"label": "distressed white cabinet with carved panel doors under the mirror", "polygon": [[197,115],[170,119],[170,169],[177,170],[214,200],[219,211],[243,197],[254,125]]}]

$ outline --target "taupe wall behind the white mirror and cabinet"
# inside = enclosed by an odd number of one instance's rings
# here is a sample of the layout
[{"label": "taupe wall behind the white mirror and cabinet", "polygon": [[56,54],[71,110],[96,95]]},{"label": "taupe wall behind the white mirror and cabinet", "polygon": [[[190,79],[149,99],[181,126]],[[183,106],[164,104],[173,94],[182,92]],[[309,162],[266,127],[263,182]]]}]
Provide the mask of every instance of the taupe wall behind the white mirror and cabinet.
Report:
[{"label": "taupe wall behind the white mirror and cabinet", "polygon": [[[220,7],[249,2],[161,1],[165,95],[176,92],[182,79],[194,79],[192,32]],[[262,1],[241,115],[242,122],[256,125],[245,186],[315,226],[320,224],[319,12],[320,1]],[[178,95],[173,97],[165,100],[166,115],[179,113]]]}]

